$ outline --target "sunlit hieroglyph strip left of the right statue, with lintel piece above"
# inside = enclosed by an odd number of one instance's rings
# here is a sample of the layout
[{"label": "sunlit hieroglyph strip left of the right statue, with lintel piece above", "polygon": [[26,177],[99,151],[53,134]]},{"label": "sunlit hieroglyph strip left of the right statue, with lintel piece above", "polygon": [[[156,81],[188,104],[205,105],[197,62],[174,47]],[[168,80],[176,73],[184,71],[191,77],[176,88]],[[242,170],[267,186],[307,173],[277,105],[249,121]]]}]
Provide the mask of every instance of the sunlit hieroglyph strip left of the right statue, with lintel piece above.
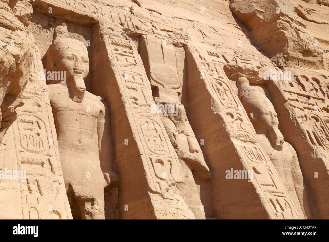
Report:
[{"label": "sunlit hieroglyph strip left of the right statue, with lintel piece above", "polygon": [[239,98],[232,91],[230,81],[222,68],[231,60],[235,60],[235,65],[241,65],[244,68],[246,65],[254,65],[257,70],[262,66],[258,67],[254,64],[255,61],[253,62],[248,58],[232,58],[215,51],[202,52],[196,48],[190,48],[190,50],[198,61],[200,74],[204,73],[203,81],[213,93],[213,98],[220,103],[216,111],[220,112],[229,125],[234,127],[235,132],[229,133],[229,135],[233,138],[240,157],[246,162],[246,167],[253,171],[254,179],[265,194],[271,208],[269,212],[278,219],[298,218],[296,210],[292,206],[291,198],[272,162],[264,149],[256,143],[255,130],[242,108]]}]

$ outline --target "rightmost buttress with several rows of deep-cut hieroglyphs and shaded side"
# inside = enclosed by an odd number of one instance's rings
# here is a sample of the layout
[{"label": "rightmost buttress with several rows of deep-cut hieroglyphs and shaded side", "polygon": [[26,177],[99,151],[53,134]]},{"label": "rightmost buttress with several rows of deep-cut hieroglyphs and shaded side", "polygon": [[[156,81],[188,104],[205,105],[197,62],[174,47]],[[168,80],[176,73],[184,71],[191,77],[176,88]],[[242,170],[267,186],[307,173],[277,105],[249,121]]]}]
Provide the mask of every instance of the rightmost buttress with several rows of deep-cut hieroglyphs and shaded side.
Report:
[{"label": "rightmost buttress with several rows of deep-cut hieroglyphs and shaded side", "polygon": [[315,218],[328,218],[329,72],[284,68],[268,82],[279,119],[285,124],[283,134],[298,153],[311,191],[312,213]]}]

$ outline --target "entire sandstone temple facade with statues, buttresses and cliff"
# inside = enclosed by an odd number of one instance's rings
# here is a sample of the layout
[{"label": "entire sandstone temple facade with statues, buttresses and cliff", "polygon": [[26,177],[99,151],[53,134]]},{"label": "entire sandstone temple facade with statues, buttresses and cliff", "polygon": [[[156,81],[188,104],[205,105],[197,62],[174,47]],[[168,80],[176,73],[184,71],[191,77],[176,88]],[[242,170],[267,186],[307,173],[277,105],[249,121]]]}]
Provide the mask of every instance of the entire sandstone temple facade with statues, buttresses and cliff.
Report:
[{"label": "entire sandstone temple facade with statues, buttresses and cliff", "polygon": [[1,1],[0,218],[328,219],[328,13]]}]

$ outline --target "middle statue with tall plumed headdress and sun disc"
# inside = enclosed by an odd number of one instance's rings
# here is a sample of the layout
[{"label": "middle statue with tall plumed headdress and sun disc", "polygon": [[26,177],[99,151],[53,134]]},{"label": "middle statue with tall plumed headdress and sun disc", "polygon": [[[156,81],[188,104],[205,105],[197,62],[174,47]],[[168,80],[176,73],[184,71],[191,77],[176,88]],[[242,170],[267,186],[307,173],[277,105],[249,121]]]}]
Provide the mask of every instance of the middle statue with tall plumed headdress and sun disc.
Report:
[{"label": "middle statue with tall plumed headdress and sun disc", "polygon": [[161,40],[154,37],[146,37],[141,49],[156,109],[181,163],[185,182],[184,201],[196,219],[205,219],[204,205],[193,173],[206,180],[210,179],[211,173],[176,91],[181,83],[174,47],[161,44]]}]

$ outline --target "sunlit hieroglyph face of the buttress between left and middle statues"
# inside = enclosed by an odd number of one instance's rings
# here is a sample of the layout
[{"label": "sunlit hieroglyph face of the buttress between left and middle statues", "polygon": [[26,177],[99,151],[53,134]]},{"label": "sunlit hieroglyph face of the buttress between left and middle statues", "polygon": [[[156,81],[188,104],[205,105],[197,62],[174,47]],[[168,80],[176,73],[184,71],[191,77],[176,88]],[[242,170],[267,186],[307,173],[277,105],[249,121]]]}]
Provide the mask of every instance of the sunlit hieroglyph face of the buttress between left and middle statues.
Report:
[{"label": "sunlit hieroglyph face of the buttress between left and middle statues", "polygon": [[180,165],[175,151],[169,148],[170,141],[159,116],[151,112],[150,106],[154,104],[151,86],[136,47],[130,41],[117,37],[110,37],[107,46],[111,51],[111,65],[114,72],[119,73],[118,81],[122,83],[129,101],[131,119],[143,144],[142,152],[147,156],[146,169],[152,176],[148,179],[153,184],[150,188],[162,198],[181,200],[176,187],[177,182],[183,182]]}]

